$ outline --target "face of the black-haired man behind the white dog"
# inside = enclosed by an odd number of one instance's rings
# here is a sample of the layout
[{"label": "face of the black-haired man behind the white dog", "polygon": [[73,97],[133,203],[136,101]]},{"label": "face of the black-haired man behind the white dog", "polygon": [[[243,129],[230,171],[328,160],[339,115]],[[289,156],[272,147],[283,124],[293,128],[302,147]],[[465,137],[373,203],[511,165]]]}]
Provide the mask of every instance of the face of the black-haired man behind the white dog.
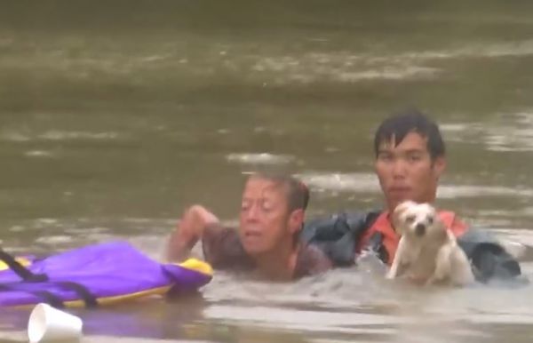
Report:
[{"label": "face of the black-haired man behind the white dog", "polygon": [[405,200],[433,203],[446,166],[444,157],[432,161],[426,138],[418,132],[408,133],[396,147],[394,143],[394,138],[381,142],[375,164],[388,210]]}]

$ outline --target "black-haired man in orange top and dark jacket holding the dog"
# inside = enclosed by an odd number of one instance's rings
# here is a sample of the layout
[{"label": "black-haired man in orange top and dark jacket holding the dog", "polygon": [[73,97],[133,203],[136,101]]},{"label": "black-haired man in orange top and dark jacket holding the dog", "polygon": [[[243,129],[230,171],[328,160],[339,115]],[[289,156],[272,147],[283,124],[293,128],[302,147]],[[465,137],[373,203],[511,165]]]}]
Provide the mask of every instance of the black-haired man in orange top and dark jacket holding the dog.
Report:
[{"label": "black-haired man in orange top and dark jacket holding the dog", "polygon": [[[339,213],[314,219],[301,238],[322,248],[338,266],[354,264],[364,249],[378,252],[391,264],[400,236],[390,213],[405,200],[434,203],[446,167],[445,147],[437,124],[417,110],[391,116],[379,125],[374,138],[375,172],[385,195],[385,211]],[[520,275],[520,266],[486,231],[468,229],[452,211],[438,212],[473,261],[478,280]]]}]

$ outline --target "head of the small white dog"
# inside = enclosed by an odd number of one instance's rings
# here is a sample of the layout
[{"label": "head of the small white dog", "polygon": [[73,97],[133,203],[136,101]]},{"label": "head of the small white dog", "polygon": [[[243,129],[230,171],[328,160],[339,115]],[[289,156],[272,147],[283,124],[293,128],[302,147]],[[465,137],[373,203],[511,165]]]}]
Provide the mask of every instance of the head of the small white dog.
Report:
[{"label": "head of the small white dog", "polygon": [[399,235],[422,239],[445,229],[437,217],[437,212],[429,203],[400,203],[393,212],[393,225]]}]

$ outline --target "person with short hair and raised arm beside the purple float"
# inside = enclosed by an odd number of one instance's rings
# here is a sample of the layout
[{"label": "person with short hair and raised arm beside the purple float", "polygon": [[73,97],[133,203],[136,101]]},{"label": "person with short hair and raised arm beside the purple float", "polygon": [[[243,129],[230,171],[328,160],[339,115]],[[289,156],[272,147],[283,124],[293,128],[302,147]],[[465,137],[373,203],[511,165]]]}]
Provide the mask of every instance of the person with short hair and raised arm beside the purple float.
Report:
[{"label": "person with short hair and raised arm beside the purple float", "polygon": [[298,241],[308,201],[309,191],[298,179],[253,174],[243,190],[238,230],[222,227],[203,206],[192,206],[171,235],[167,257],[185,259],[201,240],[214,268],[255,271],[269,280],[321,273],[331,267],[330,259]]}]

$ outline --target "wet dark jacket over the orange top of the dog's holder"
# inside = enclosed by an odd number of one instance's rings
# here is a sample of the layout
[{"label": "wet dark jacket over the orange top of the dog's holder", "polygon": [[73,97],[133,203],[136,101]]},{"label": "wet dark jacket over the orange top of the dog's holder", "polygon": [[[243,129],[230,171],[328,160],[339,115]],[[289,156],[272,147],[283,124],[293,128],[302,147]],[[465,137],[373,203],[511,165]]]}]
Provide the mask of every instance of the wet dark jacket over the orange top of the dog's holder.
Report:
[{"label": "wet dark jacket over the orange top of the dog's holder", "polygon": [[[309,220],[301,231],[300,241],[318,246],[337,267],[354,265],[355,246],[379,214],[380,211],[343,212]],[[514,280],[521,275],[518,262],[488,230],[469,228],[457,238],[457,243],[471,260],[476,280],[482,283],[493,279]],[[381,260],[388,259],[380,234],[370,238],[368,249],[376,251]]]}]

